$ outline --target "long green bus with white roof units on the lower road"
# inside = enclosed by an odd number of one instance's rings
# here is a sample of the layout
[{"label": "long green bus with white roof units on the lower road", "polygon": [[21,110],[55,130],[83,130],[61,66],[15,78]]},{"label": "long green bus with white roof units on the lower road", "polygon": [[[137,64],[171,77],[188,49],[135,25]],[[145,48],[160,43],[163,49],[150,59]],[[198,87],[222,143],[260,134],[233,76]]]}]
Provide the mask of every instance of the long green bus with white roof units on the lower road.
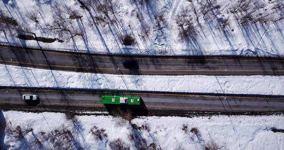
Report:
[{"label": "long green bus with white roof units on the lower road", "polygon": [[102,103],[106,104],[133,104],[140,105],[140,96],[109,96],[102,95]]}]

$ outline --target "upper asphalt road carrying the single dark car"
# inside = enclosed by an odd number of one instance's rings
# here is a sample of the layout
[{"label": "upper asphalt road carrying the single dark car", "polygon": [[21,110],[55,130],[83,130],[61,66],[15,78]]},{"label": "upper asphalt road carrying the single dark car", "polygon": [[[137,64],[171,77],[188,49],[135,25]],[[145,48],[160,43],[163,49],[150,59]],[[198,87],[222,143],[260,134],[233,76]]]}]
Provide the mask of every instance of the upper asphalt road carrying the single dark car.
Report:
[{"label": "upper asphalt road carrying the single dark car", "polygon": [[[137,66],[124,66],[123,60]],[[0,63],[113,74],[284,75],[284,59],[277,58],[114,56],[7,46],[0,46]]]}]

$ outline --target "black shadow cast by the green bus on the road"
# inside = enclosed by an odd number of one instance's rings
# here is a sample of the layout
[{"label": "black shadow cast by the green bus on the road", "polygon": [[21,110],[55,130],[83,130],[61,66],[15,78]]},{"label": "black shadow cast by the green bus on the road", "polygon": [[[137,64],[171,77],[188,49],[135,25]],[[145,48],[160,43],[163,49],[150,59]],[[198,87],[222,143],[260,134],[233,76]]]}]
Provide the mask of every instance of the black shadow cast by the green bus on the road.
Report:
[{"label": "black shadow cast by the green bus on the road", "polygon": [[111,114],[111,112],[117,108],[127,111],[131,110],[134,116],[147,116],[148,109],[143,101],[143,98],[140,97],[140,105],[131,105],[131,104],[104,104],[107,111]]}]

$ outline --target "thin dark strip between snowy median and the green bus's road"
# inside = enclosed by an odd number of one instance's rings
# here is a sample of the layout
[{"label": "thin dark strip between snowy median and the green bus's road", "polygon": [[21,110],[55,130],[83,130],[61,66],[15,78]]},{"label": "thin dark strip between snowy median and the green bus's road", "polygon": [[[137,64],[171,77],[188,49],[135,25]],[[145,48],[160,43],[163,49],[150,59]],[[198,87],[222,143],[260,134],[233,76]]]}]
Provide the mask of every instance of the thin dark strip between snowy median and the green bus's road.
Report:
[{"label": "thin dark strip between snowy median and the green bus's road", "polygon": [[244,97],[284,98],[284,95],[271,95],[271,94],[236,94],[236,93],[213,93],[213,92],[179,92],[179,91],[126,90],[126,89],[92,89],[92,88],[65,88],[65,87],[0,86],[0,89],[31,89],[31,90],[57,90],[57,91],[92,91],[92,92],[125,92],[125,93],[159,93],[159,94],[180,94],[180,95],[212,95],[212,96],[244,96]]}]

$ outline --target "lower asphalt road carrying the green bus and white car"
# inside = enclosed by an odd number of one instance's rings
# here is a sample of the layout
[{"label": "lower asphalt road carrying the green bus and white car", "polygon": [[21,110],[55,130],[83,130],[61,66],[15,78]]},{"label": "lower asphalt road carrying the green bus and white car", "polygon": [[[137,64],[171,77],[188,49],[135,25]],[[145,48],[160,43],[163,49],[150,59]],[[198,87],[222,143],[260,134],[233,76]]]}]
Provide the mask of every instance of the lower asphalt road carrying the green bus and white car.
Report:
[{"label": "lower asphalt road carrying the green bus and white car", "polygon": [[[37,94],[35,101],[24,101],[22,94]],[[64,106],[86,107],[111,110],[120,106],[133,111],[148,112],[149,110],[187,110],[187,111],[283,111],[283,98],[261,98],[245,96],[210,96],[210,95],[178,95],[154,93],[118,93],[116,95],[141,96],[141,105],[101,104],[101,95],[114,95],[110,92],[90,91],[53,91],[53,90],[23,90],[0,89],[0,105],[35,105],[34,107]]]}]

